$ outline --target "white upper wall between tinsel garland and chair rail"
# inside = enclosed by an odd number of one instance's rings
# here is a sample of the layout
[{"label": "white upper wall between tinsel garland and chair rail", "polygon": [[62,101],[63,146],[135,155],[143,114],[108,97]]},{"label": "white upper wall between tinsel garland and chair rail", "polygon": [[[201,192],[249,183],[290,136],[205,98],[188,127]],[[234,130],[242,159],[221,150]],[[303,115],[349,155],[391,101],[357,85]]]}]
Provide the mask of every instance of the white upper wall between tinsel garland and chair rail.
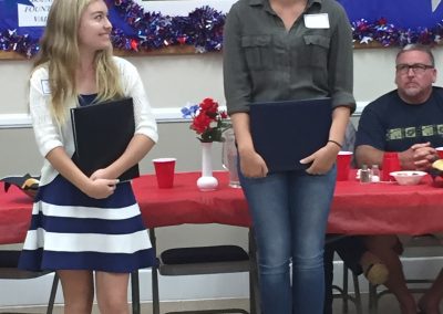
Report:
[{"label": "white upper wall between tinsel garland and chair rail", "polygon": [[[369,102],[395,87],[396,49],[354,50],[354,96]],[[434,49],[436,66],[443,48]],[[186,102],[210,96],[224,104],[222,53],[132,56],[154,108],[179,108]],[[4,114],[27,113],[27,88],[31,61],[0,61],[0,127]],[[442,69],[443,71],[443,69]],[[437,85],[443,85],[439,76]],[[3,115],[3,116],[2,116]]]}]

